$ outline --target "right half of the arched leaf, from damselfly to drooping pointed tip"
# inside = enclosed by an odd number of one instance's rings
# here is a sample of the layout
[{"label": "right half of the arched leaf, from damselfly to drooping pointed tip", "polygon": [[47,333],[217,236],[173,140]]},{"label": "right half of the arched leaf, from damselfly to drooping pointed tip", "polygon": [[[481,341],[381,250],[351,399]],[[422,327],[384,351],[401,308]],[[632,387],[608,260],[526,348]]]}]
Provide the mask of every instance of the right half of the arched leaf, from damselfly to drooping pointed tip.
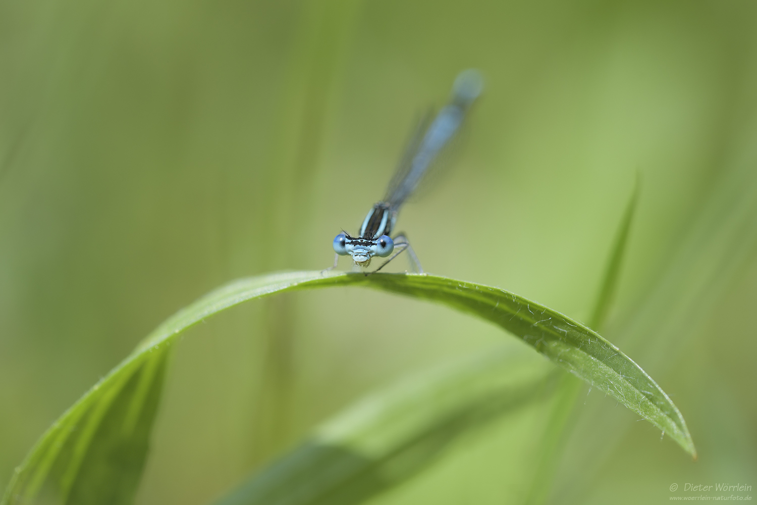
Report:
[{"label": "right half of the arched leaf, from damselfly to drooping pointed tip", "polygon": [[436,276],[385,275],[370,283],[474,313],[523,339],[594,388],[662,429],[696,458],[684,417],[662,388],[597,332],[555,310],[500,288]]}]

